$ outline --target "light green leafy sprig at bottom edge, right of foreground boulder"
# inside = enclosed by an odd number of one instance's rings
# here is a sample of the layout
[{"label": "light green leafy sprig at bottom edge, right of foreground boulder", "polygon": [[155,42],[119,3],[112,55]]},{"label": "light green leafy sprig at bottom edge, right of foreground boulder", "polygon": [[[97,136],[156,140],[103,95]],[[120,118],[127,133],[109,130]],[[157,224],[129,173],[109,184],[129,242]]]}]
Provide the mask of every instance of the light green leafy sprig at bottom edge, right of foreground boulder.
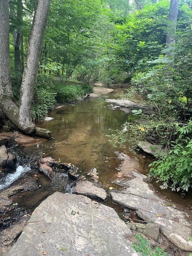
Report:
[{"label": "light green leafy sprig at bottom edge, right of foreground boulder", "polygon": [[164,252],[163,248],[156,247],[155,250],[152,250],[150,243],[146,240],[142,234],[135,236],[137,242],[132,244],[132,247],[136,252],[142,253],[142,256],[167,256],[167,253]]}]

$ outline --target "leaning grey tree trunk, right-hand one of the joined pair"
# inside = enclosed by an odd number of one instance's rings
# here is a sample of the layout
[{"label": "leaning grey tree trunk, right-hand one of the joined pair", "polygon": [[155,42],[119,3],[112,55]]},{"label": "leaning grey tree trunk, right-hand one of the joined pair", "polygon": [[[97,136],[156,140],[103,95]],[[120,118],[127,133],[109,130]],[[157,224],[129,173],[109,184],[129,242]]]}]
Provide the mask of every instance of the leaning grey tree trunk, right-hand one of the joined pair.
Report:
[{"label": "leaning grey tree trunk, right-hand one of the joined pair", "polygon": [[19,112],[19,121],[26,133],[34,132],[34,124],[31,118],[31,104],[49,8],[50,0],[38,0],[28,43],[26,67],[21,84],[21,106]]}]

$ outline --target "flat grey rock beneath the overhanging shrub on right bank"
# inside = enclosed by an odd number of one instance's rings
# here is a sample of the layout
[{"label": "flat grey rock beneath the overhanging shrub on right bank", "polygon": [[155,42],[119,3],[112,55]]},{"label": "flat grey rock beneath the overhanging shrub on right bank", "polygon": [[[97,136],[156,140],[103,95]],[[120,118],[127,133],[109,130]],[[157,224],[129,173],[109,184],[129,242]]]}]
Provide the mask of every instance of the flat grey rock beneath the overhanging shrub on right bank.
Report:
[{"label": "flat grey rock beneath the overhanging shrub on right bank", "polygon": [[161,145],[153,145],[147,141],[139,141],[137,143],[138,148],[143,152],[150,154],[151,156],[163,156],[166,153],[166,150],[162,148]]}]

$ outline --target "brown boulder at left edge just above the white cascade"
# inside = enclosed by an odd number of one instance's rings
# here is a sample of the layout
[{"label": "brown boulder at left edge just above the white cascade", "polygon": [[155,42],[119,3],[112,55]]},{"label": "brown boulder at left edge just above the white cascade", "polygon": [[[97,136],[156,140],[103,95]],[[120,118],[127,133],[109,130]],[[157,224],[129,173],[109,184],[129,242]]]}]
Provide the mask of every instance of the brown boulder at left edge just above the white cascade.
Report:
[{"label": "brown boulder at left edge just above the white cascade", "polygon": [[0,166],[16,168],[16,156],[8,152],[5,145],[0,146]]}]

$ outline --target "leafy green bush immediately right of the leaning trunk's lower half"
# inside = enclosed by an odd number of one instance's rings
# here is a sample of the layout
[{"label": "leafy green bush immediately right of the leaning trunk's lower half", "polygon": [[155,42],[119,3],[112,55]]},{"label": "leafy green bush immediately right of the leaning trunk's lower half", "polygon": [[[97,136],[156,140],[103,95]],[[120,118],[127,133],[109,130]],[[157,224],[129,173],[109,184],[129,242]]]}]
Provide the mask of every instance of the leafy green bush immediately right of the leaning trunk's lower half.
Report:
[{"label": "leafy green bush immediately right of the leaning trunk's lower half", "polygon": [[56,104],[55,97],[52,77],[47,74],[38,74],[32,103],[33,118],[40,120],[52,110]]}]

